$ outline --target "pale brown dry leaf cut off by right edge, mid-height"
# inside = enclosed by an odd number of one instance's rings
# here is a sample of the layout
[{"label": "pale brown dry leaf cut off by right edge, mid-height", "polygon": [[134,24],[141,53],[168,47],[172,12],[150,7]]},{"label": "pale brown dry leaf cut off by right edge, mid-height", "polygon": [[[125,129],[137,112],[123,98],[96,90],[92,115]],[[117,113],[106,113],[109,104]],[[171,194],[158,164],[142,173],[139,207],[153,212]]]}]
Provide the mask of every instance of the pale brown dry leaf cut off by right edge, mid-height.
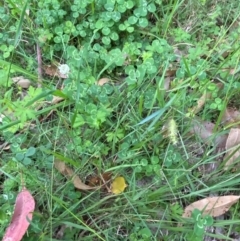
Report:
[{"label": "pale brown dry leaf cut off by right edge, mid-height", "polygon": [[240,156],[240,129],[232,128],[229,132],[227,141],[226,141],[226,153],[224,159],[227,160],[224,170],[227,170],[235,160]]}]

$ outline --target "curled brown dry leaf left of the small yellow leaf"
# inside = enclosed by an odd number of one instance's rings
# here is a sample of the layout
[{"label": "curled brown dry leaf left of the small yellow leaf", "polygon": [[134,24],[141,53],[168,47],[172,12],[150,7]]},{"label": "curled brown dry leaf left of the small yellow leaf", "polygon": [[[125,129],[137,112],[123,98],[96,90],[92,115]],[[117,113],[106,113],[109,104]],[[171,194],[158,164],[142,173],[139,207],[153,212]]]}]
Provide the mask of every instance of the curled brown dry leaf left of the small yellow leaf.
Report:
[{"label": "curled brown dry leaf left of the small yellow leaf", "polygon": [[90,187],[90,186],[84,184],[81,181],[81,179],[78,176],[76,176],[74,171],[70,167],[68,167],[64,162],[59,161],[59,160],[55,160],[54,166],[61,174],[63,174],[67,178],[72,179],[72,182],[73,182],[73,185],[74,185],[75,188],[77,188],[79,190],[95,189],[94,187]]}]

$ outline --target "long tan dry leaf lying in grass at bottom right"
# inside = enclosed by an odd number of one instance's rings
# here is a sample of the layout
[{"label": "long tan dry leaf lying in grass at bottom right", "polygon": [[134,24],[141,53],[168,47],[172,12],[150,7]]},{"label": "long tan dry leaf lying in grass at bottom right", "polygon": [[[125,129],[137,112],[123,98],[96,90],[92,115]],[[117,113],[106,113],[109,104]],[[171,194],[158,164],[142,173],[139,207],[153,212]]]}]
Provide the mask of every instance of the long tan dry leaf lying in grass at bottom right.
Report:
[{"label": "long tan dry leaf lying in grass at bottom right", "polygon": [[226,213],[229,208],[235,204],[240,196],[223,196],[223,197],[207,197],[194,202],[187,206],[184,210],[183,217],[191,217],[192,211],[198,209],[203,212],[203,215],[218,217]]}]

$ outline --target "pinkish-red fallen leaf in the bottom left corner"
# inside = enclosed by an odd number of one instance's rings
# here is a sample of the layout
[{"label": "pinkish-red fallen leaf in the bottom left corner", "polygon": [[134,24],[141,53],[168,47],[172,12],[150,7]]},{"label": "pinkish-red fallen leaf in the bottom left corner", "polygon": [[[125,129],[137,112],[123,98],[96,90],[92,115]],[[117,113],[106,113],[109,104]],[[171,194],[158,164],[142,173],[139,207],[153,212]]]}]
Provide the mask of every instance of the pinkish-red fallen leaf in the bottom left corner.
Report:
[{"label": "pinkish-red fallen leaf in the bottom left corner", "polygon": [[29,220],[32,220],[34,209],[33,196],[26,188],[23,188],[17,195],[12,221],[2,241],[20,241],[28,229]]}]

